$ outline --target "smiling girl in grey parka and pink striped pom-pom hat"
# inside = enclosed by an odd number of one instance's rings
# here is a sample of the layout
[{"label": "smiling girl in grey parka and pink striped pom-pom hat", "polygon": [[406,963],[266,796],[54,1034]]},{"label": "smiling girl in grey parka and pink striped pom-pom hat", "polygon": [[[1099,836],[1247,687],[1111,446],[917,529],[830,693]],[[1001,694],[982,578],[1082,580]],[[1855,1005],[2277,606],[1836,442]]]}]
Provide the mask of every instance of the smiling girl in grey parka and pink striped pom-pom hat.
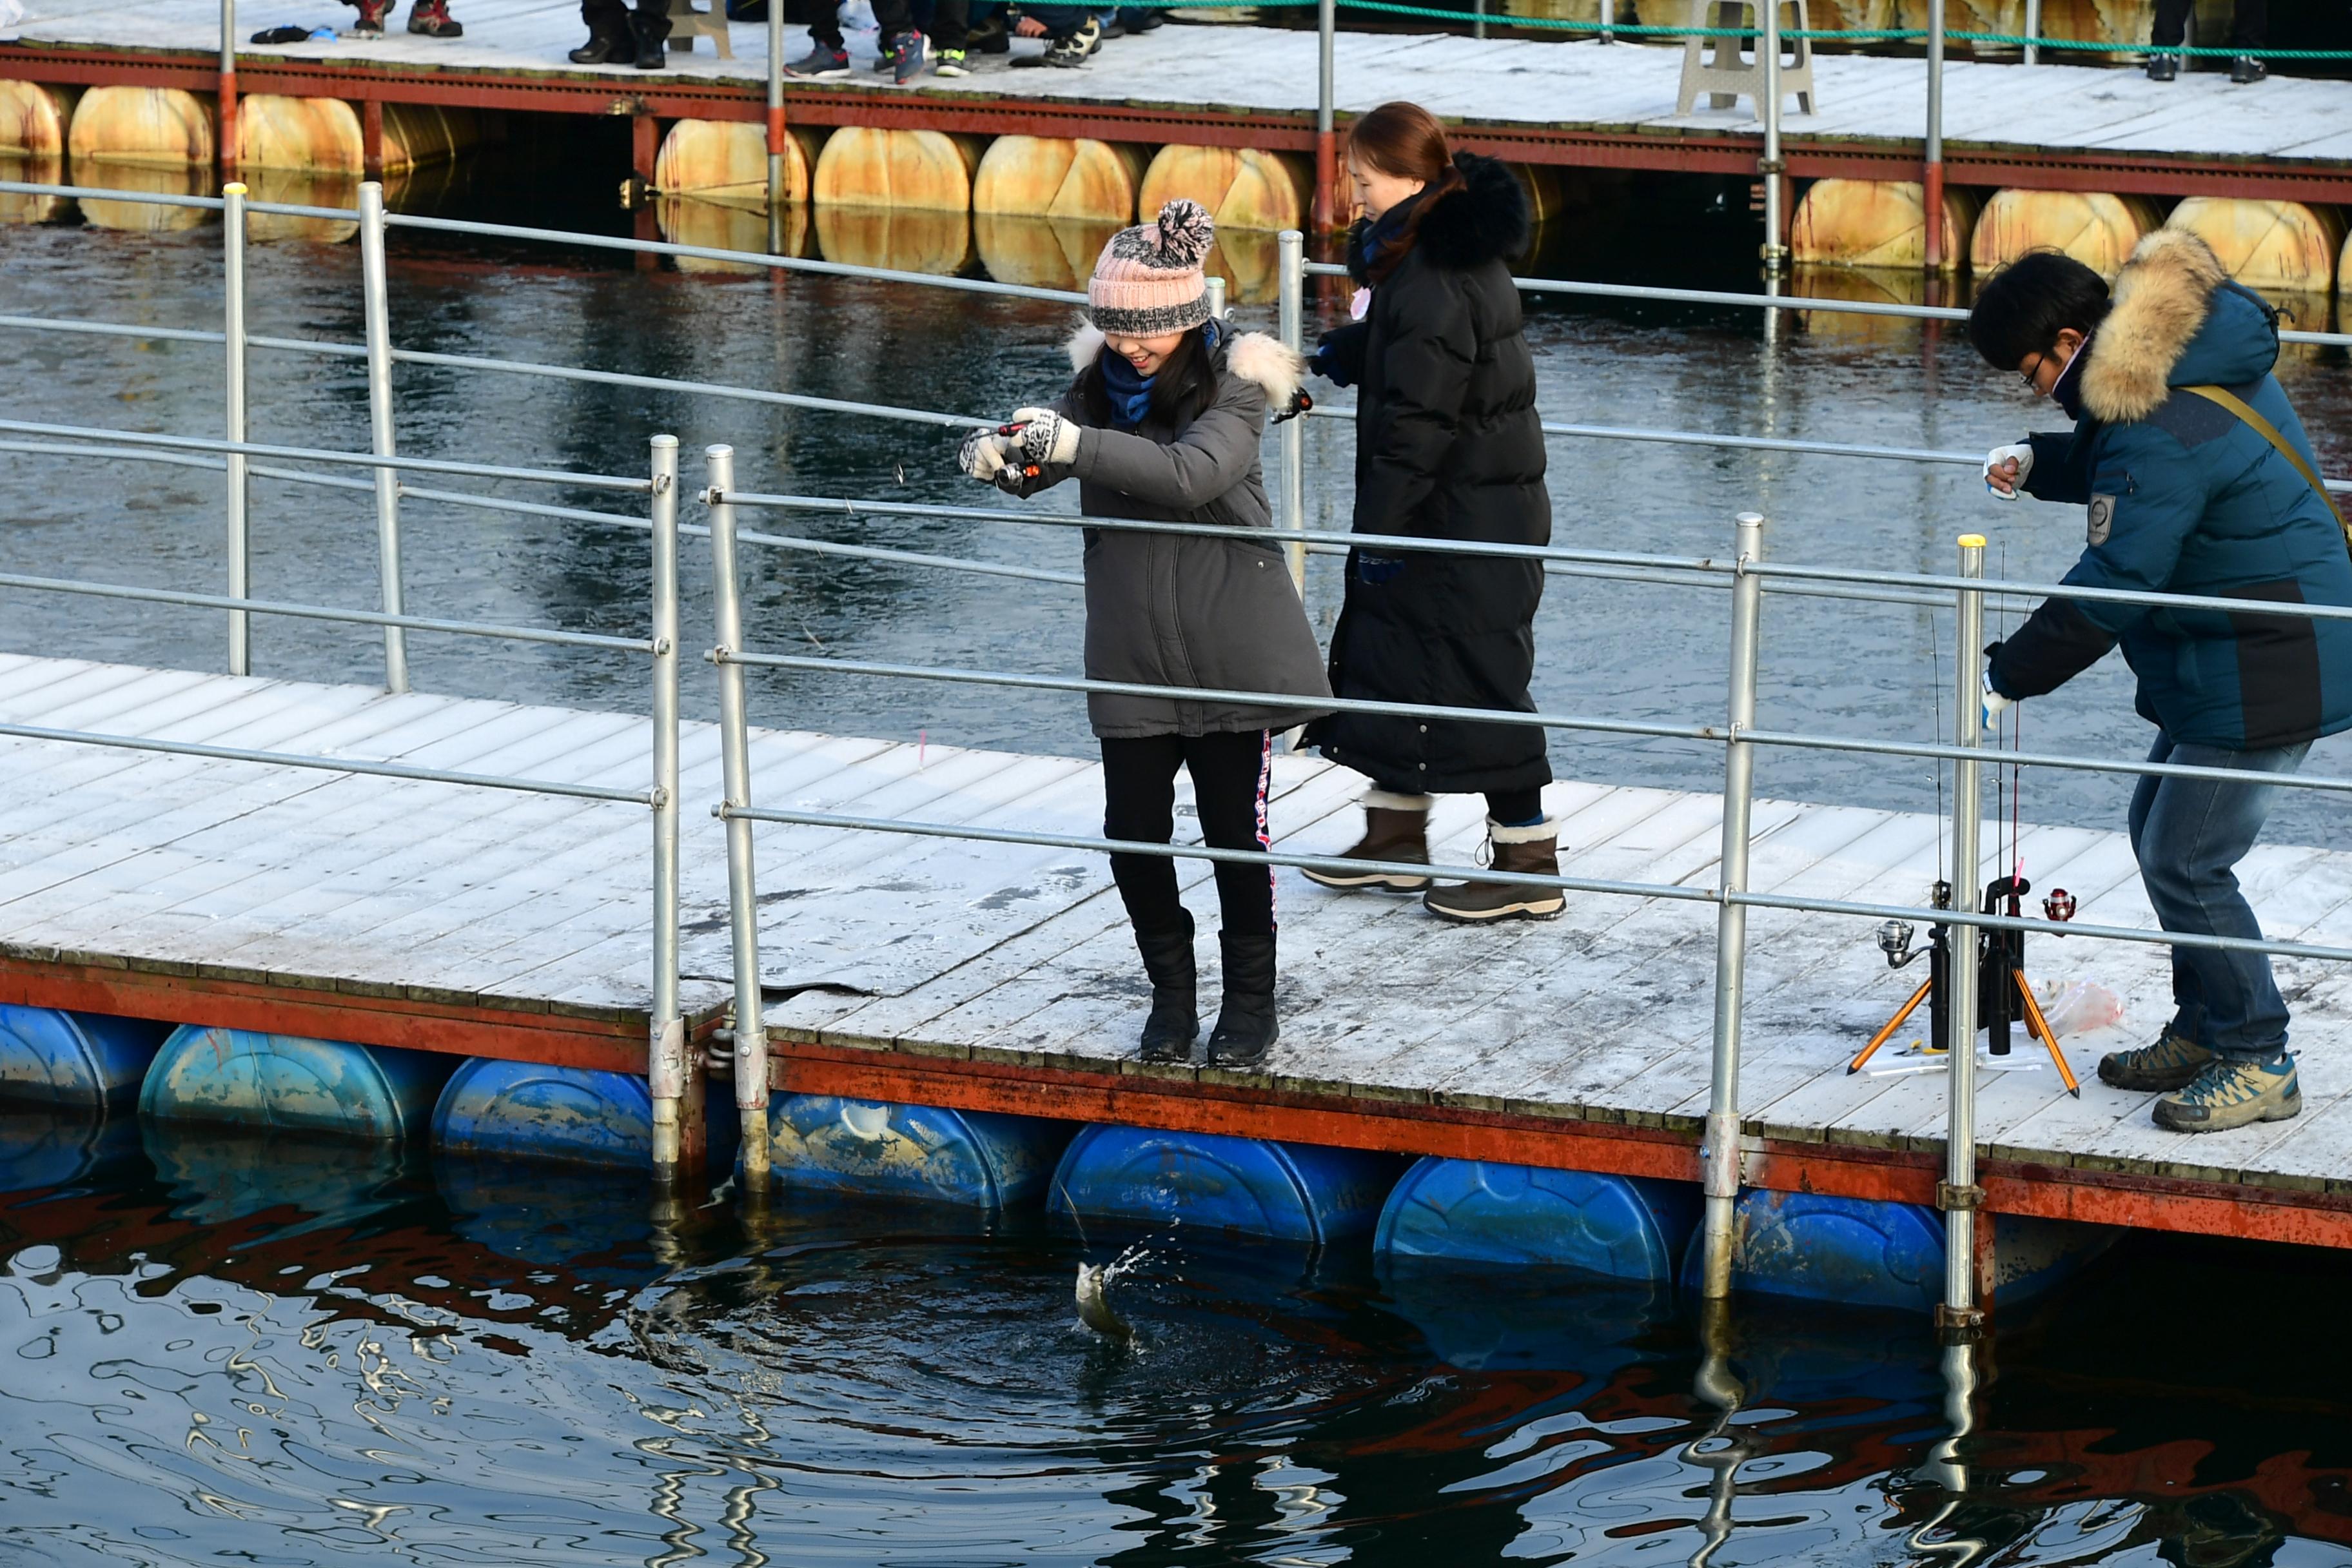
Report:
[{"label": "smiling girl in grey parka and pink striped pom-pom hat", "polygon": [[[1011,435],[964,442],[962,468],[1016,496],[1077,477],[1087,517],[1272,522],[1258,440],[1289,414],[1305,362],[1263,334],[1211,320],[1197,202],[1112,235],[1070,339],[1075,381],[1051,409],[1018,409]],[[1089,693],[1103,745],[1103,835],[1167,844],[1176,769],[1192,773],[1202,837],[1265,849],[1275,731],[1324,712],[1324,661],[1275,543],[1087,529],[1087,677],[1145,686],[1263,691],[1284,703]],[[1143,1060],[1183,1063],[1200,1034],[1192,917],[1164,856],[1110,856],[1152,983]],[[1275,882],[1216,865],[1225,997],[1209,1063],[1254,1067],[1275,1044]]]}]

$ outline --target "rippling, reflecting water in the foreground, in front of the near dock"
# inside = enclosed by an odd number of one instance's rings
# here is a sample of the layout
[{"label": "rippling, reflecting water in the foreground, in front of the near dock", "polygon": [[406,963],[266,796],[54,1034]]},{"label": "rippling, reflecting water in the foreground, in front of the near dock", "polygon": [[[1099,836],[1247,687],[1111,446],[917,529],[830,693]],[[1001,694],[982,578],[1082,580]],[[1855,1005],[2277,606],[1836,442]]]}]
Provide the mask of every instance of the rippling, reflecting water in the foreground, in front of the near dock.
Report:
[{"label": "rippling, reflecting water in the foreground, in front of the near dock", "polygon": [[[47,1119],[45,1119],[47,1121]],[[0,1119],[0,1171],[42,1133]],[[0,1556],[2331,1563],[2338,1260],[2126,1248],[1912,1316],[1174,1248],[214,1131],[0,1197]],[[64,1171],[64,1166],[59,1166]],[[261,1201],[256,1173],[275,1171]],[[2263,1300],[2263,1335],[2180,1335]],[[2197,1321],[2211,1321],[2197,1316]],[[92,1488],[106,1507],[92,1509]],[[1966,1547],[1980,1542],[1980,1547]],[[1999,1556],[1992,1556],[1999,1554]]]}]

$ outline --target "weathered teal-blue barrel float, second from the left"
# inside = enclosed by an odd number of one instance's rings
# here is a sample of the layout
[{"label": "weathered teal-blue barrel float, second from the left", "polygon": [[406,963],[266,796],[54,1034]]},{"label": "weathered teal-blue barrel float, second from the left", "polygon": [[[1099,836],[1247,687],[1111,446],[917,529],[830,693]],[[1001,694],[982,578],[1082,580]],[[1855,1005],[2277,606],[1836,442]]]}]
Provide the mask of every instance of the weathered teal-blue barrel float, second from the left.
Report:
[{"label": "weathered teal-blue barrel float, second from the left", "polygon": [[456,1058],[437,1051],[181,1025],[148,1067],[139,1114],[409,1140],[430,1128],[454,1067]]}]

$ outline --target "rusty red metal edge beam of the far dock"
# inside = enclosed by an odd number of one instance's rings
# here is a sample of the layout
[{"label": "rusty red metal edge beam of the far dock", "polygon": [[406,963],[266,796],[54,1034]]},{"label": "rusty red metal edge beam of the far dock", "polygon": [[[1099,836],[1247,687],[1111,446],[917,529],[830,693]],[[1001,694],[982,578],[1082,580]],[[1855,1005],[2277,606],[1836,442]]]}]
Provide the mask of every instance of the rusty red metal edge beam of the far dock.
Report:
[{"label": "rusty red metal edge beam of the far dock", "polygon": [[[96,49],[82,45],[0,45],[0,75],[80,87],[146,85],[216,92],[219,63],[195,52]],[[249,59],[240,94],[334,96],[353,103],[445,103],[579,115],[652,115],[659,120],[767,122],[757,82],[654,82],[560,71],[414,71],[296,59]],[[873,125],[1030,136],[1091,136],[1098,141],[1235,146],[1303,153],[1322,165],[1310,113],[1249,108],[1169,108],[1150,103],[1065,103],[1042,99],[983,99],[976,94],[882,96],[858,89],[790,85],[790,118],[804,125]],[[1597,132],[1541,125],[1465,125],[1458,143],[1517,162],[1588,169],[1670,169],[1686,174],[1755,174],[1757,136],[1722,132]],[[1922,176],[1919,143],[1788,141],[1795,179]],[[2352,202],[2352,165],[2288,160],[2225,160],[2194,155],[1966,148],[1945,143],[1952,186],[2020,186],[2037,190],[2114,190],[2140,195],[2237,195],[2291,202]],[[1336,169],[1317,169],[1317,193]]]}]

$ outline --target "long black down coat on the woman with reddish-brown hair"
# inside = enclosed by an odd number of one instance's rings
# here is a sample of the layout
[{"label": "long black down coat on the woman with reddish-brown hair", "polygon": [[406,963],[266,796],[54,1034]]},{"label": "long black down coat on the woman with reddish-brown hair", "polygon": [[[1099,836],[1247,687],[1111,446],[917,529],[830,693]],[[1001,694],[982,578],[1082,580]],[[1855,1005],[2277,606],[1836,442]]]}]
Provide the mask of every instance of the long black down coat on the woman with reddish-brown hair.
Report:
[{"label": "long black down coat on the woman with reddish-brown hair", "polygon": [[[1371,292],[1362,322],[1324,339],[1336,381],[1355,381],[1355,531],[1543,545],[1536,364],[1508,259],[1526,247],[1526,193],[1501,162],[1456,155],[1463,183],[1435,197],[1414,247]],[[1364,228],[1350,266],[1364,282]],[[1543,567],[1468,555],[1348,557],[1331,635],[1343,698],[1534,712]],[[1336,712],[1308,729],[1324,757],[1383,790],[1446,795],[1550,783],[1531,724]]]}]

